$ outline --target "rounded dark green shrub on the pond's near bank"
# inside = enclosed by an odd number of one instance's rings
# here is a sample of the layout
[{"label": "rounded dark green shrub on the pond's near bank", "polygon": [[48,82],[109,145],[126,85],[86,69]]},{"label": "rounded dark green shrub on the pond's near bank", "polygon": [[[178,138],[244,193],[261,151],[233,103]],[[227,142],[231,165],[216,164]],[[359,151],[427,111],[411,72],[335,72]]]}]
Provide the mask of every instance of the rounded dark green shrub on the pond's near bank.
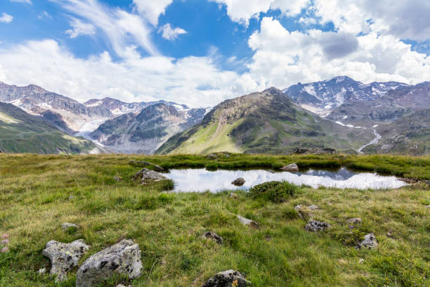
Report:
[{"label": "rounded dark green shrub on the pond's near bank", "polygon": [[274,203],[283,203],[297,191],[298,186],[287,181],[268,181],[249,189],[252,198],[263,198]]}]

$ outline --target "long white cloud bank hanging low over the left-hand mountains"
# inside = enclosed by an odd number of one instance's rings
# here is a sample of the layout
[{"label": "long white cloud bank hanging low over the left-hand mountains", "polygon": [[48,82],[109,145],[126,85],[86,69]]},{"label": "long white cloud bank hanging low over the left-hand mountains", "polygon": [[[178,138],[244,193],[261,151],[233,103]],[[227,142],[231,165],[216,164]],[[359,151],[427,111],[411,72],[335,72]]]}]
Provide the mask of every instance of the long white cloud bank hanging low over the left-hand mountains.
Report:
[{"label": "long white cloud bank hanging low over the left-hand mountains", "polygon": [[195,107],[261,88],[247,75],[220,70],[210,57],[134,56],[117,62],[105,52],[81,59],[56,41],[32,41],[0,49],[0,80],[38,84],[78,101],[111,96],[123,101],[165,99]]}]

